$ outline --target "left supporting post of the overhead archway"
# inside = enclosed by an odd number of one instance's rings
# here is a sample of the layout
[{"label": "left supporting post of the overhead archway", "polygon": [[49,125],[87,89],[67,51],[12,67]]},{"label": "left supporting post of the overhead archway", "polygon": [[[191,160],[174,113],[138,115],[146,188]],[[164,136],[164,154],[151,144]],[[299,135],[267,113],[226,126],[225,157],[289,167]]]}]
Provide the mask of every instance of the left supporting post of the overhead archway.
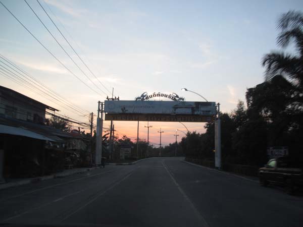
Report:
[{"label": "left supporting post of the overhead archway", "polygon": [[[101,104],[101,109],[100,109]],[[100,118],[101,113],[101,118]],[[101,164],[102,157],[102,131],[103,131],[103,102],[98,101],[97,129],[96,129],[96,149],[95,149],[95,164]]]}]

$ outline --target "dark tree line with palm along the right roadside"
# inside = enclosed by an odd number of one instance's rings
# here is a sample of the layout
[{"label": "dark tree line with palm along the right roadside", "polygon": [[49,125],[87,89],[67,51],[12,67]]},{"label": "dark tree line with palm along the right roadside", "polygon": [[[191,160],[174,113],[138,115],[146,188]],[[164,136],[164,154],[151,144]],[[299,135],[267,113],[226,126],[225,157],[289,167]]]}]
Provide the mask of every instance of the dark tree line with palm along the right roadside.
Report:
[{"label": "dark tree line with palm along the right roadside", "polygon": [[[265,54],[265,81],[246,90],[246,106],[239,101],[221,113],[222,160],[263,165],[269,146],[287,146],[289,155],[303,158],[303,14],[289,11],[278,21],[280,50]],[[285,48],[293,44],[294,53]],[[180,146],[186,156],[214,159],[214,122],[206,133],[188,133]]]}]

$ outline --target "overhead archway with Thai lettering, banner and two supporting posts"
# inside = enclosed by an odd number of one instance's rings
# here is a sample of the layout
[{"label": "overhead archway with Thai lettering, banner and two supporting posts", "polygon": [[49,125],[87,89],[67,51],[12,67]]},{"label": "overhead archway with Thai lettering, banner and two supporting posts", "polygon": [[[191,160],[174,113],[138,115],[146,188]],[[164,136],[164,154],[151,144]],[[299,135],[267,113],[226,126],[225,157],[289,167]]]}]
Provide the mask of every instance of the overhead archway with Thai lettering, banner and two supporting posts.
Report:
[{"label": "overhead archway with Thai lettering, banner and two supporting posts", "polygon": [[[150,99],[158,99],[150,100]],[[162,101],[162,98],[171,101]],[[101,118],[99,118],[101,103]],[[218,111],[217,111],[218,108]],[[103,120],[106,121],[148,121],[148,122],[212,122],[215,121],[215,166],[221,168],[221,120],[220,103],[185,101],[176,93],[144,92],[135,100],[106,100],[98,102],[95,163],[102,157]],[[139,129],[139,127],[138,127]]]}]

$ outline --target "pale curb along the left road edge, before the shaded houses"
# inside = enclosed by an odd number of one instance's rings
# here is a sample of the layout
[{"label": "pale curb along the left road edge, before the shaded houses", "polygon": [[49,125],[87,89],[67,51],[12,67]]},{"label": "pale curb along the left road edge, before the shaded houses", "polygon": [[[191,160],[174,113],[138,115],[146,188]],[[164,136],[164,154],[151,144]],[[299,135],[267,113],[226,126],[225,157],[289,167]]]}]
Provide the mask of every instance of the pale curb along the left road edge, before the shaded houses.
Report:
[{"label": "pale curb along the left road edge, before the shaded houses", "polygon": [[73,174],[85,173],[85,172],[91,171],[95,168],[98,168],[98,167],[90,167],[90,168],[85,168],[85,169],[81,169],[81,170],[79,169],[78,172],[73,172],[73,173],[59,173],[59,174],[53,174],[53,175],[50,175],[50,176],[43,176],[43,177],[38,177],[38,178],[21,180],[21,181],[18,181],[18,182],[4,183],[4,184],[0,184],[0,190],[15,187],[15,186],[26,185],[26,184],[30,184],[30,183],[37,183],[37,182],[40,182],[40,181],[45,181],[45,180],[54,179],[54,178],[64,178],[66,176],[70,176],[70,175],[73,175]]}]

